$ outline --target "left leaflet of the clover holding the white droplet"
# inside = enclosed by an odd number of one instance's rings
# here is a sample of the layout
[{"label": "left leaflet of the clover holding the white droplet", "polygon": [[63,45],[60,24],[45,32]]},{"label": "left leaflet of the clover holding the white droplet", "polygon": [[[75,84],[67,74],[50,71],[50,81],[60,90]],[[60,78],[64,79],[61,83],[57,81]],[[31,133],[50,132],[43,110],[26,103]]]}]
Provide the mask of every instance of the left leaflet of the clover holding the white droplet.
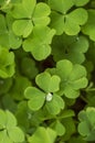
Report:
[{"label": "left leaflet of the clover holding the white droplet", "polygon": [[24,91],[24,96],[27,99],[30,99],[28,101],[28,106],[31,110],[39,110],[45,100],[45,94],[39,90],[35,87],[28,87]]}]

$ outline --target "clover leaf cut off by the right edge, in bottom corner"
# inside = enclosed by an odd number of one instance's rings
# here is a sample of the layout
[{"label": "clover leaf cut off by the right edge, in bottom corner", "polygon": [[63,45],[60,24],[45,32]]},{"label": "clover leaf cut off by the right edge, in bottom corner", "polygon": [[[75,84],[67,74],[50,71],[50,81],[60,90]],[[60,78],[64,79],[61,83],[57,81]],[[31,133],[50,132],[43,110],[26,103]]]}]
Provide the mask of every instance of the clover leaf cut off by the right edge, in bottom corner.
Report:
[{"label": "clover leaf cut off by the right edge, in bottom corner", "polygon": [[86,141],[95,141],[95,108],[78,113],[78,132]]}]

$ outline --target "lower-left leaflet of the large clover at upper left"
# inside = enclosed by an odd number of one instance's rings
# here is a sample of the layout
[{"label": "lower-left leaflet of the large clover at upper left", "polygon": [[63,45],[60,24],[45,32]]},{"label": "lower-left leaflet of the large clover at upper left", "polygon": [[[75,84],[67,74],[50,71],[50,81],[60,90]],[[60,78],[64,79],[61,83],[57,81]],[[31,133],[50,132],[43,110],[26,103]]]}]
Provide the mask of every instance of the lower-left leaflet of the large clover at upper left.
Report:
[{"label": "lower-left leaflet of the large clover at upper left", "polygon": [[12,29],[15,35],[28,37],[33,30],[33,24],[31,20],[17,20],[13,22]]}]

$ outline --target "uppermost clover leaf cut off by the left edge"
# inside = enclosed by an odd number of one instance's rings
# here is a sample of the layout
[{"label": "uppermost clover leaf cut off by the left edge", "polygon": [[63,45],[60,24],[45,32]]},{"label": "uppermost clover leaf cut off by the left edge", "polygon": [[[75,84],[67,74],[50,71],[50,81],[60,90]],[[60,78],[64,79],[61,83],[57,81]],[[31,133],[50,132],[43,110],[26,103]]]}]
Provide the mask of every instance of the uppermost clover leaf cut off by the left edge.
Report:
[{"label": "uppermost clover leaf cut off by the left edge", "polygon": [[8,48],[20,47],[22,41],[12,32],[11,24],[13,22],[13,19],[11,15],[7,14],[4,18],[2,14],[0,14],[0,45]]}]

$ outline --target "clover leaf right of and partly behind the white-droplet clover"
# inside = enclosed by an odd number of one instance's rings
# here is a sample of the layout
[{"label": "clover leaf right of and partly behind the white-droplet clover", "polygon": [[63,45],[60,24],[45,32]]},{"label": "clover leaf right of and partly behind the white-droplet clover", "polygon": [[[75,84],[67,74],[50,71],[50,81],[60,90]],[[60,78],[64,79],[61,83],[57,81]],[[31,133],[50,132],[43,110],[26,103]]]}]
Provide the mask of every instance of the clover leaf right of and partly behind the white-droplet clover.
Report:
[{"label": "clover leaf right of and partly behind the white-droplet clover", "polygon": [[61,77],[61,89],[59,94],[67,98],[77,98],[80,89],[87,86],[86,69],[82,65],[73,65],[70,61],[63,59],[56,63],[56,68],[49,69],[51,74]]}]

